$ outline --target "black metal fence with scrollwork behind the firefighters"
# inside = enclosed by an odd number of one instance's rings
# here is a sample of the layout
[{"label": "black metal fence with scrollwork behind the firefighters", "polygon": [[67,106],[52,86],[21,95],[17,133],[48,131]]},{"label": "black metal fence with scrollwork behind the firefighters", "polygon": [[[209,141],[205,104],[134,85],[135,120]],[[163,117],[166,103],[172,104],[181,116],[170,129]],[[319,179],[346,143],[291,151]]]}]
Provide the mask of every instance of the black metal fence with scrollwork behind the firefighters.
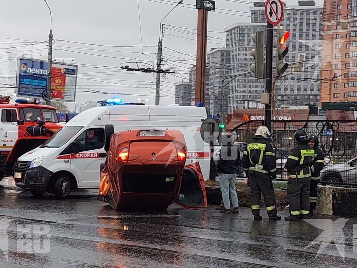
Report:
[{"label": "black metal fence with scrollwork behind the firefighters", "polygon": [[[237,134],[238,142],[249,142],[263,121],[247,121],[231,132]],[[294,133],[298,128],[316,134],[319,148],[325,156],[325,167],[321,172],[321,183],[357,186],[357,124],[356,121],[272,121],[271,143],[276,152],[277,180],[287,180],[285,169],[287,157],[296,146]],[[246,176],[242,174],[241,177]]]}]

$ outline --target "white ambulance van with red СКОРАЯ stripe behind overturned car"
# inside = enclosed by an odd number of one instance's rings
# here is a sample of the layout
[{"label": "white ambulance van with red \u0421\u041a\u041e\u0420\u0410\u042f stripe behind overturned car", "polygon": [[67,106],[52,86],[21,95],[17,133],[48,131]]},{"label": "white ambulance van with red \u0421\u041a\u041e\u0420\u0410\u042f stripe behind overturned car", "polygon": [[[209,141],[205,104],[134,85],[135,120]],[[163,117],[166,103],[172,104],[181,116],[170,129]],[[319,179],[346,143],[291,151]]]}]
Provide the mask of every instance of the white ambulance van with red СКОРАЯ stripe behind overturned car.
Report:
[{"label": "white ambulance van with red \u0421\u041a\u041e\u0420\u0410\u042f stripe behind overturned car", "polygon": [[15,184],[31,194],[54,193],[68,197],[71,189],[99,188],[100,165],[105,162],[104,128],[114,132],[129,129],[176,129],[185,135],[186,164],[199,162],[209,179],[210,148],[200,135],[207,118],[204,107],[118,104],[117,99],[83,111],[72,118],[40,147],[22,155],[15,163]]}]

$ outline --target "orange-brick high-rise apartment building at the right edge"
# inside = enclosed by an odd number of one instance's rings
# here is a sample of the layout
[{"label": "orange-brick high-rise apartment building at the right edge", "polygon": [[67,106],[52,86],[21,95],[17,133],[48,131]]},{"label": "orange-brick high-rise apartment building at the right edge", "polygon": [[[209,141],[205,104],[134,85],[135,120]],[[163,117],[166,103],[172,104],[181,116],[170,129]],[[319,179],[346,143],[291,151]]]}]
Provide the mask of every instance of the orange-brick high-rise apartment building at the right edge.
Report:
[{"label": "orange-brick high-rise apartment building at the right edge", "polygon": [[321,103],[357,101],[357,0],[324,0]]}]

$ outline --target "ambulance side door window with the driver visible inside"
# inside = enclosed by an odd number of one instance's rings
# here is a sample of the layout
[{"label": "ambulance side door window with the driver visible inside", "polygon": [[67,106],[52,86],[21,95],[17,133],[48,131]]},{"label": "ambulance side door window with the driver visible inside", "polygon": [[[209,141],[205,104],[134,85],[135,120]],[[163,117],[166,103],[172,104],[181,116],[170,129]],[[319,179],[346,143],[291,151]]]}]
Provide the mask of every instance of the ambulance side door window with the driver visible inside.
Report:
[{"label": "ambulance side door window with the driver visible inside", "polygon": [[103,148],[103,140],[104,129],[90,128],[83,131],[75,141],[78,142],[80,145],[79,152],[85,152]]}]

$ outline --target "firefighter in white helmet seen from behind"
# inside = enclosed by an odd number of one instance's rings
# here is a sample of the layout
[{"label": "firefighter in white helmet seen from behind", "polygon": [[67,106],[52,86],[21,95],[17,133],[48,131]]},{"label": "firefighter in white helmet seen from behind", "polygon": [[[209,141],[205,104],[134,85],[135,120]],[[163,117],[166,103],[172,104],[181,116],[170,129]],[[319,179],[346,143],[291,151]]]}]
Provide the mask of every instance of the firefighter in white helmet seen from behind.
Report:
[{"label": "firefighter in white helmet seen from behind", "polygon": [[250,204],[254,220],[261,220],[260,197],[263,193],[265,207],[270,220],[280,220],[277,215],[276,201],[272,180],[276,178],[276,157],[267,138],[270,132],[266,126],[258,127],[255,136],[247,144],[243,153],[243,169],[248,174],[248,186],[251,191]]}]

